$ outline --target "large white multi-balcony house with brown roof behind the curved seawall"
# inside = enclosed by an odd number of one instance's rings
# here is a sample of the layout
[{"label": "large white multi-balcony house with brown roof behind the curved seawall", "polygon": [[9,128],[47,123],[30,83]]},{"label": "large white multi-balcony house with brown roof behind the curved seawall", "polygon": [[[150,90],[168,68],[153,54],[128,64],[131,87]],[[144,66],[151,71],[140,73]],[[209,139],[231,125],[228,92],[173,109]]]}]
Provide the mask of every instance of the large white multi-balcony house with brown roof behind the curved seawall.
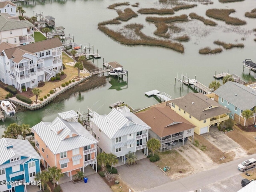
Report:
[{"label": "large white multi-balcony house with brown roof behind the curved seawall", "polygon": [[62,43],[52,38],[24,46],[0,44],[0,80],[22,89],[35,88],[49,81],[62,68]]}]

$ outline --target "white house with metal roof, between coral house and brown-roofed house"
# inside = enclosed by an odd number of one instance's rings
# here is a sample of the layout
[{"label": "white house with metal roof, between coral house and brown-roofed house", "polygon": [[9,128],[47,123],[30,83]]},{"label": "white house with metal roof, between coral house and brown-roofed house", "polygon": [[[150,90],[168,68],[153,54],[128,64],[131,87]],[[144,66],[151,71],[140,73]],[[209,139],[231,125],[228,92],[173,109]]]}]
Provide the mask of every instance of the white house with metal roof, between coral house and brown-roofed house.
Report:
[{"label": "white house with metal roof, between coral house and brown-roofed house", "polygon": [[132,112],[112,109],[108,115],[99,115],[90,119],[92,134],[98,140],[99,152],[113,153],[121,157],[125,164],[128,152],[141,151],[148,155],[148,126]]}]

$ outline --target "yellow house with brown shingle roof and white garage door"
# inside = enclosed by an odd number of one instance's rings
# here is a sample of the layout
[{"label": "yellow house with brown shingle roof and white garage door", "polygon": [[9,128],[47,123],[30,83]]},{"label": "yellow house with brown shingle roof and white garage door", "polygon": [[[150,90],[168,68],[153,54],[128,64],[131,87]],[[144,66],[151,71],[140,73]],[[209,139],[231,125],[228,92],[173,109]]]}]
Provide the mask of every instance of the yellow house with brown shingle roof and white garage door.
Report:
[{"label": "yellow house with brown shingle roof and white garage door", "polygon": [[172,110],[194,124],[198,135],[209,132],[211,125],[218,125],[229,118],[230,110],[202,93],[188,93],[168,101]]}]

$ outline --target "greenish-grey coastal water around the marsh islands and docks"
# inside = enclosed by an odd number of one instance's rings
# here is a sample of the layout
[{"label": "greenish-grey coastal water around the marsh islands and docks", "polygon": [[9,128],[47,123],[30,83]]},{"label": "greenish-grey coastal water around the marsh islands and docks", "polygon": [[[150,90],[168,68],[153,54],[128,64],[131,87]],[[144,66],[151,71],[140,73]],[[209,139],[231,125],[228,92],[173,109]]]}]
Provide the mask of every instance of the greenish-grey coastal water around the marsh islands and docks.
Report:
[{"label": "greenish-grey coastal water around the marsh islands and docks", "polygon": [[[72,0],[72,1],[54,1],[45,0],[44,3],[30,1],[29,4],[20,3],[26,11],[26,16],[33,16],[34,11],[40,10],[44,16],[51,15],[56,19],[56,26],[64,26],[65,33],[74,35],[74,41],[77,44],[90,43],[94,45],[94,52],[102,56],[100,60],[94,60],[94,64],[102,67],[104,62],[117,61],[124,69],[128,70],[128,78],[124,77],[124,82],[118,82],[116,79],[108,78],[109,83],[103,88],[97,88],[92,91],[83,92],[81,95],[70,96],[69,99],[58,103],[51,103],[43,109],[36,111],[17,112],[16,118],[6,118],[6,122],[0,123],[0,135],[2,136],[4,128],[10,123],[30,124],[34,126],[38,122],[51,122],[56,118],[57,113],[67,110],[79,110],[87,112],[91,108],[99,114],[108,114],[110,112],[109,104],[119,100],[129,104],[134,109],[144,108],[146,106],[157,104],[158,100],[148,98],[144,92],[157,89],[166,92],[172,98],[177,98],[192,92],[186,86],[180,86],[176,83],[175,77],[180,78],[181,74],[190,78],[196,78],[202,84],[208,86],[215,72],[229,72],[242,78],[253,79],[256,74],[244,69],[242,61],[251,58],[256,61],[256,19],[246,18],[245,12],[250,12],[256,7],[256,1],[246,0],[242,2],[222,4],[217,0],[213,4],[198,4],[195,8],[177,11],[174,15],[189,14],[196,12],[206,18],[205,12],[210,8],[234,8],[236,12],[230,14],[232,17],[238,17],[246,20],[244,26],[226,25],[225,22],[214,20],[218,25],[215,27],[205,26],[198,20],[191,20],[185,23],[178,23],[176,26],[182,28],[180,34],[171,34],[173,37],[186,34],[190,37],[189,42],[184,45],[184,54],[167,48],[154,46],[125,46],[106,36],[98,30],[98,23],[116,18],[116,10],[108,9],[110,4],[116,2],[130,2],[135,4],[139,2],[138,7],[120,6],[119,9],[126,7],[132,8],[135,12],[139,8],[171,8],[158,2],[157,0],[136,0],[136,1],[116,1],[116,0]],[[193,1],[193,3],[196,1]],[[148,15],[138,14],[138,17],[132,18],[128,22],[122,22],[120,26],[109,26],[115,30],[121,30],[124,24],[140,23],[144,24],[142,32],[148,36],[154,36],[155,25],[145,21]],[[150,15],[152,16],[152,15]],[[156,16],[156,15],[154,15]],[[200,55],[198,50],[209,46],[217,48],[213,44],[214,40],[220,40],[227,43],[243,43],[244,48],[233,48],[223,50],[220,54]]]}]

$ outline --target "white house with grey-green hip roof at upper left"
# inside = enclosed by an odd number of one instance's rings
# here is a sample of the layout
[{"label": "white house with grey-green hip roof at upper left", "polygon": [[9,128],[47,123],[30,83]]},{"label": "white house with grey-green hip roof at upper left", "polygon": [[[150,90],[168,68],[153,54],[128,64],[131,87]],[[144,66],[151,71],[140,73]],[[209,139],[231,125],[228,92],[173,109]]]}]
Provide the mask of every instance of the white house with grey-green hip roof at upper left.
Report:
[{"label": "white house with grey-green hip roof at upper left", "polygon": [[0,42],[17,46],[34,43],[34,25],[27,20],[20,20],[18,16],[0,13]]}]

